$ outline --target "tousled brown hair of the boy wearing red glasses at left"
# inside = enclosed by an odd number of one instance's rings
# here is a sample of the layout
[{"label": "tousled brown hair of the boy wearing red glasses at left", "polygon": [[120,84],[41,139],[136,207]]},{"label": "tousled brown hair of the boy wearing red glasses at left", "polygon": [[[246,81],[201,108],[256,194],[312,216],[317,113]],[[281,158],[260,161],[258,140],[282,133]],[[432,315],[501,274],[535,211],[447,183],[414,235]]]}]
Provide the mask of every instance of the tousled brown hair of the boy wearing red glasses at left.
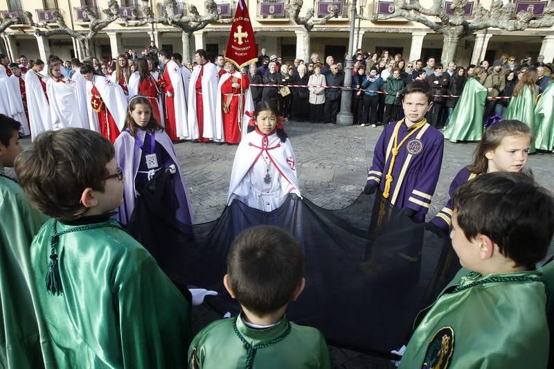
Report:
[{"label": "tousled brown hair of the boy wearing red glasses at left", "polygon": [[87,212],[79,201],[86,188],[104,191],[106,164],[114,157],[114,146],[90,129],[46,131],[19,154],[15,172],[35,208],[67,222]]}]

